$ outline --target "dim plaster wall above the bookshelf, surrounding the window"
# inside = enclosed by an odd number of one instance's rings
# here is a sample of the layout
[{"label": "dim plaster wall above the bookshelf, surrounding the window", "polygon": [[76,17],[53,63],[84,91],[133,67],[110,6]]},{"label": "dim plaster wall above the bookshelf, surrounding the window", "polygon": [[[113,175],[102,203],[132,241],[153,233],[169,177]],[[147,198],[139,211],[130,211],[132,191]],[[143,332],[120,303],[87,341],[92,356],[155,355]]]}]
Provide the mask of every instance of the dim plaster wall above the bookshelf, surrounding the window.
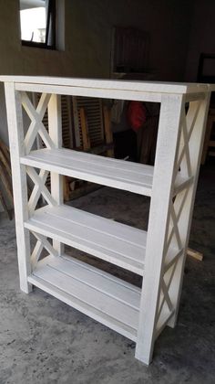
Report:
[{"label": "dim plaster wall above the bookshelf, surrounding the window", "polygon": [[[112,30],[118,25],[148,32],[155,80],[183,80],[186,0],[65,0],[65,51],[22,47],[18,5],[18,0],[0,0],[0,74],[108,78]],[[2,85],[0,137],[8,143]]]}]

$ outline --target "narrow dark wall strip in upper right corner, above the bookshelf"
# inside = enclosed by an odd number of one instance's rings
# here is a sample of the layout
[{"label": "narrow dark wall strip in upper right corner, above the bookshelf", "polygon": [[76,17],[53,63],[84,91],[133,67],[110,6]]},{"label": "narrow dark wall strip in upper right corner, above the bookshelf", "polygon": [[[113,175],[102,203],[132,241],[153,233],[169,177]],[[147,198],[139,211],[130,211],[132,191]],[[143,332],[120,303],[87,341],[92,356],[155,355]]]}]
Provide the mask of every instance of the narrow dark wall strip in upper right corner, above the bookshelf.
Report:
[{"label": "narrow dark wall strip in upper right corner, above the bookshelf", "polygon": [[196,81],[200,53],[215,54],[215,1],[197,0],[190,23],[189,50],[185,80]]}]

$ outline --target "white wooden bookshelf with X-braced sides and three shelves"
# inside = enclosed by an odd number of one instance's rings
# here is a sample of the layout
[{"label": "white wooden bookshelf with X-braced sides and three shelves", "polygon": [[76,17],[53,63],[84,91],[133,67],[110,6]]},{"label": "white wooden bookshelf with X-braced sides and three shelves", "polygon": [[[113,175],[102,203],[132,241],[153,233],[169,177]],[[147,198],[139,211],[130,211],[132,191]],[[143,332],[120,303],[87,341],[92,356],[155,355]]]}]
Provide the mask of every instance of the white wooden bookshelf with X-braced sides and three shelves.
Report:
[{"label": "white wooden bookshelf with X-braced sides and three shelves", "polygon": [[[13,171],[21,290],[33,286],[134,340],[149,364],[179,311],[183,268],[212,86],[1,76]],[[35,107],[30,92],[41,92]],[[155,165],[62,148],[60,95],[161,103]],[[189,108],[188,108],[189,107]],[[30,118],[27,131],[23,110]],[[48,132],[42,120],[48,112]],[[39,135],[46,148],[34,150]],[[51,175],[51,191],[46,177]],[[64,205],[62,176],[150,197],[148,231]],[[26,176],[34,183],[27,197]],[[36,208],[40,195],[46,206]],[[139,212],[141,215],[141,212]],[[36,238],[31,250],[30,234]],[[65,254],[64,245],[142,276],[142,289]],[[40,258],[46,249],[48,256]]]}]

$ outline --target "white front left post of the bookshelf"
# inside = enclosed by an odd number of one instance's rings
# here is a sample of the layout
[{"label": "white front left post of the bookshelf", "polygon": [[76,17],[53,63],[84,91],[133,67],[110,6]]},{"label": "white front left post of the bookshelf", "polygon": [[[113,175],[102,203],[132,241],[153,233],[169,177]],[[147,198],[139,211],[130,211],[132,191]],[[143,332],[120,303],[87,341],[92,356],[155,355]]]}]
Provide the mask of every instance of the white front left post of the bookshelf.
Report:
[{"label": "white front left post of the bookshelf", "polygon": [[25,155],[23,115],[20,94],[15,91],[13,82],[5,82],[5,101],[13,170],[15,231],[20,288],[25,293],[29,293],[32,290],[32,285],[27,283],[27,276],[31,273],[30,234],[29,230],[24,228],[24,222],[28,219],[26,166],[20,165],[20,156]]}]

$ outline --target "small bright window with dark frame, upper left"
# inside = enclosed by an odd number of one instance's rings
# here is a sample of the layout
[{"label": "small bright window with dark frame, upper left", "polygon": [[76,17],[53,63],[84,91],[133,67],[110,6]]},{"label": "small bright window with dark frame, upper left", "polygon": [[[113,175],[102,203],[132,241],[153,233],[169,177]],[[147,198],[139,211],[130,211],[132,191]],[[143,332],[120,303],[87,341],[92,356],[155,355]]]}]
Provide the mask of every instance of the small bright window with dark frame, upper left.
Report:
[{"label": "small bright window with dark frame, upper left", "polygon": [[56,0],[20,0],[22,44],[56,48]]}]

